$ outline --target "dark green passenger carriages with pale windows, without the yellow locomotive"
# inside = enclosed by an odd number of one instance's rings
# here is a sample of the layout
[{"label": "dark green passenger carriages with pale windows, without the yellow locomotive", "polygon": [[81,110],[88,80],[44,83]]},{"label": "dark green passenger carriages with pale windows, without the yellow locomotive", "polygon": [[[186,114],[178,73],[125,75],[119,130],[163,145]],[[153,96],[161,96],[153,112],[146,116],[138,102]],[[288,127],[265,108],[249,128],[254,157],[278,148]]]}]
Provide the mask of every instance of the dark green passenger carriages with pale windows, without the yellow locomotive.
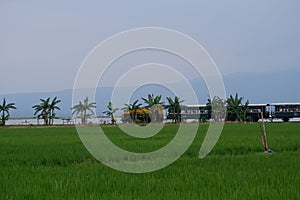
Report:
[{"label": "dark green passenger carriages with pale windows, without the yellow locomotive", "polygon": [[[292,118],[300,118],[300,103],[248,104],[246,121],[257,122],[261,119],[261,114],[270,121],[281,119],[288,122]],[[183,121],[208,121],[211,119],[211,110],[207,105],[183,105],[180,114],[167,111],[167,120],[173,120],[174,117]]]}]

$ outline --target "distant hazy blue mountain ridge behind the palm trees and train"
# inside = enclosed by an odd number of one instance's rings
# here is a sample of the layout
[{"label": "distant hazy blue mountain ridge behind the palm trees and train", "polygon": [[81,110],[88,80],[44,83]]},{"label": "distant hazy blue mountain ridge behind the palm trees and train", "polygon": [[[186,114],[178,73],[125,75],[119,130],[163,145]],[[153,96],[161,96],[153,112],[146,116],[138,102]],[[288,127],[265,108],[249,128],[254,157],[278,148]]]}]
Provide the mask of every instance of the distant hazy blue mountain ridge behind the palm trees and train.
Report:
[{"label": "distant hazy blue mountain ridge behind the palm trees and train", "polygon": [[[226,94],[235,94],[236,92],[250,103],[277,103],[277,102],[300,102],[300,69],[283,72],[266,73],[236,73],[223,76],[226,87]],[[180,83],[179,83],[180,85]],[[202,79],[191,80],[191,85],[197,92],[199,102],[205,104],[209,94]],[[113,87],[97,88],[96,103],[97,115],[102,115],[106,110],[107,102],[110,101]],[[145,97],[147,93],[157,92],[149,88],[141,90],[135,94],[134,98]],[[163,91],[163,98],[172,95],[168,91]],[[40,98],[55,97],[61,99],[56,111],[57,116],[71,116],[72,107],[72,89],[57,92],[35,92],[35,93],[17,93],[0,94],[0,98],[6,98],[8,102],[14,102],[16,110],[11,110],[12,117],[31,117],[33,116],[32,106],[39,103]],[[163,101],[166,101],[163,99]],[[142,101],[140,100],[142,103]],[[187,101],[186,101],[187,102]]]}]

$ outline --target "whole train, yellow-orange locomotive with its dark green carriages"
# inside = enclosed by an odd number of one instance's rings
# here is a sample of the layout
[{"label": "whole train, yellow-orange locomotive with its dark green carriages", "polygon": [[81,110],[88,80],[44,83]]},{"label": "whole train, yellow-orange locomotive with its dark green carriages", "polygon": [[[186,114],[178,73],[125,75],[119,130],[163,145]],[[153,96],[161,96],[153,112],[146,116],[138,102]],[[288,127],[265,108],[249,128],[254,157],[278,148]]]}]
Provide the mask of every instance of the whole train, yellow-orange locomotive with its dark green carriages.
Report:
[{"label": "whole train, yellow-orange locomotive with its dark green carriages", "polygon": [[[288,122],[291,118],[300,118],[300,103],[273,103],[273,104],[248,104],[246,121],[257,122],[261,119],[261,113],[265,119],[282,119]],[[129,111],[124,112],[124,121],[140,121],[149,123],[150,118],[154,121],[162,122],[164,120],[163,109],[157,115],[150,117],[149,110],[141,108],[133,113]],[[182,105],[179,113],[172,112],[171,109],[167,110],[166,119],[180,121],[197,120],[199,122],[208,121],[212,117],[211,108],[207,105]],[[131,119],[131,120],[130,120]],[[217,121],[216,119],[213,119]]]}]

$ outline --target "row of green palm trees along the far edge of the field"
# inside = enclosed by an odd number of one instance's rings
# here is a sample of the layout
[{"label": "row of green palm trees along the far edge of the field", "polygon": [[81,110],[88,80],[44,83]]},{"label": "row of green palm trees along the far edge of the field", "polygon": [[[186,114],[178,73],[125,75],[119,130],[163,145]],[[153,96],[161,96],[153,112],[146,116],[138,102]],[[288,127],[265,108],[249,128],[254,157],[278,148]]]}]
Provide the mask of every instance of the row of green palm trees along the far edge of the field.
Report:
[{"label": "row of green palm trees along the far edge of the field", "polygon": [[[210,111],[210,117],[214,116],[217,121],[220,116],[226,112],[227,121],[245,121],[246,113],[248,112],[247,100],[243,103],[243,97],[239,97],[238,93],[235,96],[230,95],[228,99],[224,100],[219,97],[207,100],[207,109]],[[180,100],[179,97],[174,98],[167,97],[167,104],[162,101],[161,95],[148,94],[147,98],[141,98],[145,106],[135,100],[131,104],[124,104],[123,108],[114,108],[112,102],[108,102],[107,110],[103,114],[111,118],[111,123],[115,124],[115,112],[117,110],[123,110],[125,122],[162,122],[163,121],[163,110],[167,109],[168,113],[173,115],[174,123],[180,122],[181,104],[184,100]],[[54,97],[47,99],[40,99],[40,103],[32,106],[34,109],[34,116],[39,119],[43,119],[44,125],[53,125],[54,119],[57,118],[55,110],[60,110],[58,104],[61,102],[60,99]],[[224,110],[226,105],[227,111]],[[95,113],[93,108],[96,108],[96,102],[89,102],[88,97],[84,98],[77,105],[74,105],[72,109],[72,116],[79,117],[81,124],[86,124],[87,119],[93,116]],[[214,113],[212,112],[214,108]],[[10,119],[9,110],[17,109],[15,103],[7,103],[6,99],[3,99],[2,105],[0,105],[1,120],[0,125],[5,126],[5,122]]]}]

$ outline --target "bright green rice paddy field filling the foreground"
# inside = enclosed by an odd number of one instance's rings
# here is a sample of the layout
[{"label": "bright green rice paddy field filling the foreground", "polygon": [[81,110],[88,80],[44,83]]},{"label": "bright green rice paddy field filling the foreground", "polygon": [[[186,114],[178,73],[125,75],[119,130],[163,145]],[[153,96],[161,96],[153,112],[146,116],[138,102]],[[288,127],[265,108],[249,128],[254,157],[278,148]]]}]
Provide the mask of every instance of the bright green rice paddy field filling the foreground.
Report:
[{"label": "bright green rice paddy field filling the foreground", "polygon": [[[176,125],[135,139],[103,127],[135,152],[172,140]],[[0,199],[300,199],[300,123],[267,123],[273,154],[263,153],[258,123],[225,124],[213,151],[198,158],[208,124],[190,148],[159,171],[111,169],[84,148],[75,127],[0,128]]]}]

